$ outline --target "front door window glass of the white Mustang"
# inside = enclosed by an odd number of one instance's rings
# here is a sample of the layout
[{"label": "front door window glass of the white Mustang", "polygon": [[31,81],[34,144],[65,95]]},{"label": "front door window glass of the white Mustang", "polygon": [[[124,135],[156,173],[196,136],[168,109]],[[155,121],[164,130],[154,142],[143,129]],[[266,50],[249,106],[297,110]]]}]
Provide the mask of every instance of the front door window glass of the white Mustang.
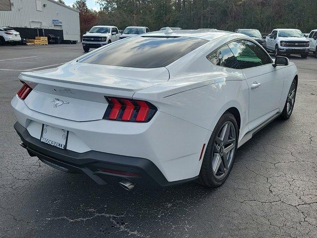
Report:
[{"label": "front door window glass of the white Mustang", "polygon": [[271,58],[251,41],[239,40],[228,44],[240,68],[251,68],[272,63]]}]

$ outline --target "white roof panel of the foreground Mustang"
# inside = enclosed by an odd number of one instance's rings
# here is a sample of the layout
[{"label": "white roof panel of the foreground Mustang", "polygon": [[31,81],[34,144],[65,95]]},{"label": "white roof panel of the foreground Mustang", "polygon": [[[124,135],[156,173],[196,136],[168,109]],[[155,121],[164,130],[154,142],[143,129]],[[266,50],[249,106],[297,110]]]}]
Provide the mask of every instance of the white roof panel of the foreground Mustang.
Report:
[{"label": "white roof panel of the foreground Mustang", "polygon": [[[153,31],[147,33],[145,36],[158,36],[158,37],[193,37],[201,38],[205,40],[213,40],[225,35],[237,34],[229,31],[220,30],[172,30],[171,32],[166,31]],[[241,35],[241,34],[239,34]]]}]

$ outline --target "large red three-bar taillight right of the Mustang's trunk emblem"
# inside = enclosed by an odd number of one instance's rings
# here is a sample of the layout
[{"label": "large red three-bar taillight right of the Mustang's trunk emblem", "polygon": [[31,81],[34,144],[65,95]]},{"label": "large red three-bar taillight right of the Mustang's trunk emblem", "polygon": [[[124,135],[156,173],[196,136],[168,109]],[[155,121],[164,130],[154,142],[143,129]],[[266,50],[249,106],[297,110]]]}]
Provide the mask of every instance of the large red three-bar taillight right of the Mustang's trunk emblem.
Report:
[{"label": "large red three-bar taillight right of the Mustang's trunk emblem", "polygon": [[148,122],[158,109],[151,103],[128,98],[105,97],[108,107],[104,119],[131,122]]}]

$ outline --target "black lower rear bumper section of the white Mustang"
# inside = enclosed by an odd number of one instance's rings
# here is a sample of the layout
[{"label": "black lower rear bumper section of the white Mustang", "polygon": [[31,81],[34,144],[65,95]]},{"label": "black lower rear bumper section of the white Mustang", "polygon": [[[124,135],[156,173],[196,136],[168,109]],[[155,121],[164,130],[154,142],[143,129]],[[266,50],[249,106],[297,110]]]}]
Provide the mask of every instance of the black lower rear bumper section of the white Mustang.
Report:
[{"label": "black lower rear bumper section of the white Mustang", "polygon": [[197,178],[169,182],[159,168],[148,159],[98,151],[77,153],[62,150],[32,137],[28,130],[18,122],[14,124],[14,129],[23,142],[21,145],[30,156],[37,156],[42,162],[64,172],[84,173],[100,185],[129,179],[141,186],[165,187]]}]

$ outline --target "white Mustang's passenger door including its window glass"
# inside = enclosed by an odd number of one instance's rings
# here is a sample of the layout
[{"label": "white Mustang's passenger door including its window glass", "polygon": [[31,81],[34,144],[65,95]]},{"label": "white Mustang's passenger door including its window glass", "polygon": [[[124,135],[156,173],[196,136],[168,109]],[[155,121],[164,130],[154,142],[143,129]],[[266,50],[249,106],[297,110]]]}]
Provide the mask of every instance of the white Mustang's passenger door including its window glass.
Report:
[{"label": "white Mustang's passenger door including its window glass", "polygon": [[256,43],[238,40],[228,46],[249,86],[249,128],[253,129],[279,111],[284,74]]}]

